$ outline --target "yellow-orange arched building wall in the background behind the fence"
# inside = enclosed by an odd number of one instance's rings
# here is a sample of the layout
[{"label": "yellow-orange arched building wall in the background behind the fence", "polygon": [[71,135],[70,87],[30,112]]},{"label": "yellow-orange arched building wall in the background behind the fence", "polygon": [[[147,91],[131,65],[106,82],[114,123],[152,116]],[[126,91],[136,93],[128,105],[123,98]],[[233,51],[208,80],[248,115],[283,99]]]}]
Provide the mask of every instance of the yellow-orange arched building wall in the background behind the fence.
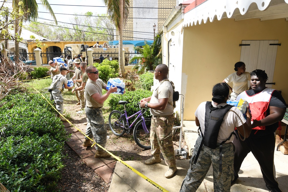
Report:
[{"label": "yellow-orange arched building wall in the background behind the fence", "polygon": [[[97,41],[85,41],[85,42],[83,41],[42,41],[42,44],[45,43],[47,46],[41,47],[41,50],[46,51],[47,47],[57,46],[57,47],[60,47],[61,52],[63,52],[65,48],[64,45],[67,45],[67,44],[84,44],[84,45],[89,45],[90,47],[96,44],[96,42]],[[108,41],[98,41],[98,42],[99,42],[99,45],[103,45],[104,42],[108,43]],[[28,52],[33,52],[33,50],[37,48],[36,43],[33,43],[33,42],[27,42],[27,43],[28,43],[28,47],[27,47]]]}]

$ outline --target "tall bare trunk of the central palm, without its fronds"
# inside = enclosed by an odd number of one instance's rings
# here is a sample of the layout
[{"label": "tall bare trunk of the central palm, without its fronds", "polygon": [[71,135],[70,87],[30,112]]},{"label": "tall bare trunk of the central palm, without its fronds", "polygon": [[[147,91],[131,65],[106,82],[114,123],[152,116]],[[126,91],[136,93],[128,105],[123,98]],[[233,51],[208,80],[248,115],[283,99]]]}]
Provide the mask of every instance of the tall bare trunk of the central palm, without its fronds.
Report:
[{"label": "tall bare trunk of the central palm, without its fronds", "polygon": [[122,41],[123,41],[123,0],[120,0],[120,25],[119,25],[119,51],[118,51],[118,58],[119,58],[119,69],[120,69],[120,77],[125,76],[125,68],[123,63],[123,54],[122,54]]}]

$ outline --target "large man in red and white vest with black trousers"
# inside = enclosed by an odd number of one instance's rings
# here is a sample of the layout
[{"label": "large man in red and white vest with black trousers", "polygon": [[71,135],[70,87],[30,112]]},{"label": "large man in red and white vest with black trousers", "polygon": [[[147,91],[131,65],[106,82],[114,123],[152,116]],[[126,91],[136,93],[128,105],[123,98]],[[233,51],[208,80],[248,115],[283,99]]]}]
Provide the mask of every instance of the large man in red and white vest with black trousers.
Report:
[{"label": "large man in red and white vest with black trousers", "polygon": [[280,192],[275,177],[274,149],[275,131],[281,129],[281,120],[286,111],[286,102],[277,90],[266,88],[268,79],[265,71],[256,69],[250,73],[250,86],[238,95],[236,100],[246,99],[252,114],[252,132],[245,141],[234,140],[234,181],[245,157],[250,151],[257,159],[266,187],[269,191]]}]

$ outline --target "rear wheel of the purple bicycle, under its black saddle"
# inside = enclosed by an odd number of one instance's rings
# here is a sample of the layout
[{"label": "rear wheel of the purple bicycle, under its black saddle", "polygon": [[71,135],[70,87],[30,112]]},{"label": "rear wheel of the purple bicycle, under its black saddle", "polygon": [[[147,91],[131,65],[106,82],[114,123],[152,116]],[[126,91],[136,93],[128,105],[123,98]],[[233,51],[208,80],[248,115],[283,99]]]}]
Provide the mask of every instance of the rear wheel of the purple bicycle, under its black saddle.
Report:
[{"label": "rear wheel of the purple bicycle, under its black saddle", "polygon": [[122,113],[120,111],[111,111],[109,115],[109,127],[112,133],[116,136],[122,136],[124,134],[125,121],[121,118]]}]

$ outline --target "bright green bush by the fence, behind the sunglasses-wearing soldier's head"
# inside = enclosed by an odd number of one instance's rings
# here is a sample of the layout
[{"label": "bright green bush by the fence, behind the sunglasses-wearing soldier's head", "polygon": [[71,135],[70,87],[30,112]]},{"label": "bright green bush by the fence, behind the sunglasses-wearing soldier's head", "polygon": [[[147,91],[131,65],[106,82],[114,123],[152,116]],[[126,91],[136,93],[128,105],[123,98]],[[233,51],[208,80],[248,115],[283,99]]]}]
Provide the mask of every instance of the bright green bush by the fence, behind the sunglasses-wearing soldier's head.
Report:
[{"label": "bright green bush by the fence, behind the sunglasses-wearing soldier's head", "polygon": [[107,59],[103,60],[102,63],[94,63],[93,66],[95,66],[99,70],[99,78],[104,81],[104,83],[107,83],[107,81],[110,78],[118,77],[118,71],[119,71],[119,64],[118,61],[109,61]]}]

